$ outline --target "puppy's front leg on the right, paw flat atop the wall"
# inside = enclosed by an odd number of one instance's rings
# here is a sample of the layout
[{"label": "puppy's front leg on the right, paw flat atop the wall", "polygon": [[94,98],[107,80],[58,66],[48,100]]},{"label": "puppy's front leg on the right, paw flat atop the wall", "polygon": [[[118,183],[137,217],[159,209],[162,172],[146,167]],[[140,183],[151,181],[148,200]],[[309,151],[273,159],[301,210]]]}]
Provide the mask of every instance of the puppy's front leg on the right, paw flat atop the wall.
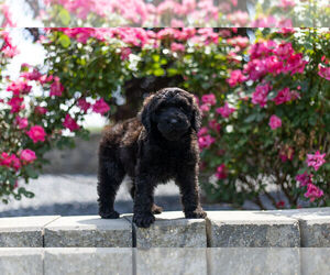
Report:
[{"label": "puppy's front leg on the right, paw flat atop the wall", "polygon": [[180,189],[185,217],[187,219],[206,218],[207,213],[199,202],[198,167],[180,170],[176,182]]}]

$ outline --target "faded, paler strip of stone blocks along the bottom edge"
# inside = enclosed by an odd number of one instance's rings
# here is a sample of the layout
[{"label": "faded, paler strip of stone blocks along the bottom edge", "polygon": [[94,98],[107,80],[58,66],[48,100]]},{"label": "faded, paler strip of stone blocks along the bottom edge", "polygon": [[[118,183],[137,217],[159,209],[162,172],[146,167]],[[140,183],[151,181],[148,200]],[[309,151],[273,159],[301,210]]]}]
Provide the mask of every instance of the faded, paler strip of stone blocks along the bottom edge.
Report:
[{"label": "faded, paler strip of stone blocks along the bottom edge", "polygon": [[326,275],[330,249],[0,248],[1,275]]}]

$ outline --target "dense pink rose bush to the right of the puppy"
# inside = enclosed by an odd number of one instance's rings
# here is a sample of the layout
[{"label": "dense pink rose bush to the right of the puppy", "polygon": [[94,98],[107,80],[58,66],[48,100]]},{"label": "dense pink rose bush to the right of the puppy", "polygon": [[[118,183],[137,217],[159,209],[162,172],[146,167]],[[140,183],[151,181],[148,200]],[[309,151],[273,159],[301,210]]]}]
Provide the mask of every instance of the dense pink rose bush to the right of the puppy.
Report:
[{"label": "dense pink rose bush to the right of the puppy", "polygon": [[262,196],[274,208],[330,206],[329,37],[327,30],[257,31],[228,87],[207,96],[217,98],[199,134],[201,169],[215,176],[204,184],[208,198],[262,209]]}]

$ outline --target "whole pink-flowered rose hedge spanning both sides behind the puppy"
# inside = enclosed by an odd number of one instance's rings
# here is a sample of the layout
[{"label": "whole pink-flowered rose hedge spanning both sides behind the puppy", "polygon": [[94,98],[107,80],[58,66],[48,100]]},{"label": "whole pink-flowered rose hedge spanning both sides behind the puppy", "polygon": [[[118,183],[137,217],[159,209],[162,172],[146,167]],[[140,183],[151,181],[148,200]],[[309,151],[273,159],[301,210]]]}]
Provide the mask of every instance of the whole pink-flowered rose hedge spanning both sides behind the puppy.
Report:
[{"label": "whole pink-flowered rose hedge spanning both sides behind the puppy", "polygon": [[40,30],[45,66],[24,64],[19,79],[2,79],[0,196],[31,196],[16,180],[36,177],[46,151],[86,136],[86,114],[112,118],[122,105],[131,108],[130,81],[168,78],[164,85],[195,92],[202,111],[208,199],[237,207],[250,199],[260,208],[262,196],[275,208],[329,205],[329,32],[250,30],[251,43],[241,31]]}]

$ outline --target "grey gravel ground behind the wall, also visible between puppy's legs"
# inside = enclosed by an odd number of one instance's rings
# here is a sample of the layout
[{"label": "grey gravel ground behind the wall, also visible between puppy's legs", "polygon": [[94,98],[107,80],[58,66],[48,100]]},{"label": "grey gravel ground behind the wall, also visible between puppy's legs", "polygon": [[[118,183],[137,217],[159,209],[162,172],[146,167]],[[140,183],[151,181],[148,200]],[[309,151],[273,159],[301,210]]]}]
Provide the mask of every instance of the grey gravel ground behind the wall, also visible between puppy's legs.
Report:
[{"label": "grey gravel ground behind the wall, also visible between puppy's legs", "polygon": [[[43,175],[26,186],[28,190],[35,194],[33,199],[22,198],[11,200],[8,205],[0,204],[0,217],[97,215],[96,186],[96,175]],[[155,201],[167,211],[182,210],[179,190],[173,183],[157,187]],[[132,212],[132,207],[128,186],[122,184],[117,196],[116,210],[127,213]],[[204,205],[204,208],[231,209],[228,205]]]}]

